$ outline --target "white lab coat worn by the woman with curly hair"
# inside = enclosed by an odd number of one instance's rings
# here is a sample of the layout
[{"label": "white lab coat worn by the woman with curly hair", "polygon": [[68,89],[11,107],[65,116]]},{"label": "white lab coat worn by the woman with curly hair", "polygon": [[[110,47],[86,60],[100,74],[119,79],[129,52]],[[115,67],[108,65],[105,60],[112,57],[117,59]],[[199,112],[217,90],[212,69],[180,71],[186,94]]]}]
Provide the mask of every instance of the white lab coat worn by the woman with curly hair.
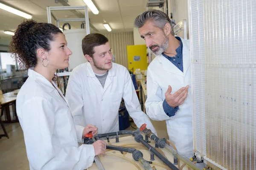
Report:
[{"label": "white lab coat worn by the woman with curly hair", "polygon": [[70,108],[61,91],[31,69],[28,75],[16,106],[30,170],[84,170],[92,166],[94,147],[78,146],[82,136],[76,136]]}]

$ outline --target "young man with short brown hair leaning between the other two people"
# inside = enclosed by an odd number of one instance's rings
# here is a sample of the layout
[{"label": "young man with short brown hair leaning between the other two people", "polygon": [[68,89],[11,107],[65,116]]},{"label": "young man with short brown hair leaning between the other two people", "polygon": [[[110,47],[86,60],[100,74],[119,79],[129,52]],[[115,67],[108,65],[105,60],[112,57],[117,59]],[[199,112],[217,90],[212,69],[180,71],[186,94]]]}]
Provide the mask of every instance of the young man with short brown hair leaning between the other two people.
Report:
[{"label": "young man with short brown hair leaning between the other two people", "polygon": [[73,69],[67,85],[66,98],[77,127],[87,124],[99,128],[98,133],[119,131],[118,110],[122,98],[137,127],[144,123],[156,133],[148,116],[141,111],[128,70],[112,63],[108,38],[88,34],[82,40],[82,50],[88,62]]}]

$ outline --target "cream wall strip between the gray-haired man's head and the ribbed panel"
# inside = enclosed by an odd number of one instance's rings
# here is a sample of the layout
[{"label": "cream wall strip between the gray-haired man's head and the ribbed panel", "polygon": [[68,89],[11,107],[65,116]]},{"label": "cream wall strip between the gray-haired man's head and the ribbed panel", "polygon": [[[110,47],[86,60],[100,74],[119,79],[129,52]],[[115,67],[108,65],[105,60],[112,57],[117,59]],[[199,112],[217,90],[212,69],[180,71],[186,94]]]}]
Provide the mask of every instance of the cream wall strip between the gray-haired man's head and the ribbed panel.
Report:
[{"label": "cream wall strip between the gray-haired man's head and the ribbed panel", "polygon": [[[189,39],[189,13],[188,13],[188,1],[187,0],[168,0],[168,15],[173,14],[173,19],[177,24],[183,19],[186,19],[187,23],[187,39]],[[184,38],[183,31],[179,32],[177,36]]]}]

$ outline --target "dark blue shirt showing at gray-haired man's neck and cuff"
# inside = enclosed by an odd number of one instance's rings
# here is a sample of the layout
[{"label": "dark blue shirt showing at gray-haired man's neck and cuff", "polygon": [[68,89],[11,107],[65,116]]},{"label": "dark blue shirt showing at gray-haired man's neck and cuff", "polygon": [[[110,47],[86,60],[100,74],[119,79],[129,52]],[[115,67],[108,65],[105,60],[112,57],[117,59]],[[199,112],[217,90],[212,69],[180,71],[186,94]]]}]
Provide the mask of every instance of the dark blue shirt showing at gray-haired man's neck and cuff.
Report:
[{"label": "dark blue shirt showing at gray-haired man's neck and cuff", "polygon": [[[163,54],[164,57],[166,57],[172,64],[174,64],[180,71],[183,72],[183,54],[182,54],[182,41],[180,37],[175,37],[177,40],[180,41],[180,46],[176,49],[177,54],[174,57],[169,57],[166,54]],[[168,115],[169,117],[175,116],[175,113],[178,111],[179,106],[172,108],[167,102],[166,99],[163,101],[163,111]]]}]

